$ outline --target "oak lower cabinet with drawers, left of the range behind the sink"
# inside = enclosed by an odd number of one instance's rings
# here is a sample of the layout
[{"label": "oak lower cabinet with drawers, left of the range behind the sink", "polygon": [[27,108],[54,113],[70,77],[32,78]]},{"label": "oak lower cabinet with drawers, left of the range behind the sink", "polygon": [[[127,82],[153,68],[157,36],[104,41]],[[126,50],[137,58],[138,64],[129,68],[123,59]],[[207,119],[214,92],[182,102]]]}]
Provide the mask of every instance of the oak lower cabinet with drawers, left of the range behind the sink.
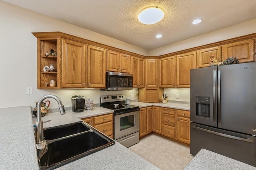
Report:
[{"label": "oak lower cabinet with drawers, left of the range behind the sink", "polygon": [[106,115],[99,115],[94,117],[82,118],[82,121],[88,123],[98,131],[104,133],[111,139],[113,138],[113,113]]}]

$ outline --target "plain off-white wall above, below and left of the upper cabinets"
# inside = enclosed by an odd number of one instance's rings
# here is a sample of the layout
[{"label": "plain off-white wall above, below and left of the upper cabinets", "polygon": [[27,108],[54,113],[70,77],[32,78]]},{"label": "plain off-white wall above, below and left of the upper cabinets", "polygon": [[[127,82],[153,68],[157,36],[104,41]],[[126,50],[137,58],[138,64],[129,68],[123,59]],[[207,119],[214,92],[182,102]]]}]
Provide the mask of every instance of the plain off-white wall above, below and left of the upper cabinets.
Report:
[{"label": "plain off-white wall above, below and left of the upper cabinets", "polygon": [[[173,50],[177,51],[180,49],[194,47],[198,44],[205,44],[206,42],[212,41],[212,36],[216,35],[215,33],[213,35],[206,34],[174,45],[168,45],[156,50],[147,51],[128,43],[124,43],[2,1],[0,1],[0,23],[0,108],[14,106],[31,106],[34,108],[35,102],[46,94],[57,95],[64,103],[64,106],[71,106],[71,96],[76,94],[81,94],[86,98],[91,98],[95,101],[94,103],[99,103],[99,96],[105,94],[122,93],[126,97],[130,97],[131,94],[136,96],[136,90],[114,92],[105,92],[100,90],[38,90],[36,84],[37,42],[36,37],[34,37],[31,32],[61,31],[146,56],[170,53]],[[248,25],[248,23],[254,25]],[[218,36],[222,37],[225,35],[224,38],[228,39],[236,36],[236,31],[238,32],[237,36],[252,33],[251,28],[248,27],[252,27],[255,31],[256,20],[248,21],[248,23],[245,25],[243,23],[238,24],[234,27],[224,29]],[[216,41],[216,39],[214,39],[214,41]],[[32,95],[26,94],[26,87],[33,88]],[[168,100],[176,100],[176,94],[180,94],[180,100],[189,101],[189,90],[165,89],[164,91],[169,96]],[[56,108],[57,102],[54,100],[51,101],[52,104],[50,107]]]}]

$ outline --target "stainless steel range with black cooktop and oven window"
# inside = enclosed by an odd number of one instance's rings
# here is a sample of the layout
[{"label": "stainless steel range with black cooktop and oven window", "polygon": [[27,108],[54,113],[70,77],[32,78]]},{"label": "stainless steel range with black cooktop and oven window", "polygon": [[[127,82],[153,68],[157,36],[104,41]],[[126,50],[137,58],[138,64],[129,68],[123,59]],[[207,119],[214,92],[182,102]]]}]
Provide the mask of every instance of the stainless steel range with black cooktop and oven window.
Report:
[{"label": "stainless steel range with black cooktop and oven window", "polygon": [[114,110],[114,139],[125,147],[139,142],[140,108],[125,104],[124,95],[100,96],[100,107]]}]

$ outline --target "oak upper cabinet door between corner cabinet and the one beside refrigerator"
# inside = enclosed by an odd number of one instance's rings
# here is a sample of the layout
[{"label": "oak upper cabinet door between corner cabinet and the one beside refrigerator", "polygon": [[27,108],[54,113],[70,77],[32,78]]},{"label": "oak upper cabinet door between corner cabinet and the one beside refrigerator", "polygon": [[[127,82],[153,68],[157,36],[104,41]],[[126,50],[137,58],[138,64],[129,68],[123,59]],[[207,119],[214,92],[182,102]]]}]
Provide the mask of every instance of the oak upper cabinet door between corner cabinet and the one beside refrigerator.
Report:
[{"label": "oak upper cabinet door between corner cabinet and the one beside refrigerator", "polygon": [[175,56],[159,59],[159,87],[175,87]]}]

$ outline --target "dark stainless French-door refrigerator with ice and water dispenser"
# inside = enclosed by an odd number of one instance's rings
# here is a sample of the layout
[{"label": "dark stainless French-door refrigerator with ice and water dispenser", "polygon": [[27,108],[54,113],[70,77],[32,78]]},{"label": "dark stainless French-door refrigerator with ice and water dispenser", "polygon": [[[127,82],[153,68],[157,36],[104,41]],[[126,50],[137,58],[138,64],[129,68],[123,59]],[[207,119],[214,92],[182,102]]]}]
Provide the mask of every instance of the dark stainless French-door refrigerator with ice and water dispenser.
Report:
[{"label": "dark stainless French-door refrigerator with ice and water dispenser", "polygon": [[256,166],[256,62],[190,70],[190,153]]}]

